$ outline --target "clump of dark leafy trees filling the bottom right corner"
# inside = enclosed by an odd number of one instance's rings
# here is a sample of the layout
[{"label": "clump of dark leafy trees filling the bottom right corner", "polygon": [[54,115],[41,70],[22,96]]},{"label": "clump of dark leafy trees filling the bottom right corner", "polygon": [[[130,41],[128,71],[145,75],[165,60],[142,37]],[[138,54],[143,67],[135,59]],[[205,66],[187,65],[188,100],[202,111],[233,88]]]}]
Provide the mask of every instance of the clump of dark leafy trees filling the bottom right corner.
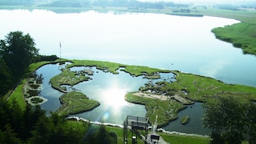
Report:
[{"label": "clump of dark leafy trees filling the bottom right corner", "polygon": [[256,144],[256,105],[232,97],[215,98],[203,104],[203,124],[210,128],[211,143]]}]

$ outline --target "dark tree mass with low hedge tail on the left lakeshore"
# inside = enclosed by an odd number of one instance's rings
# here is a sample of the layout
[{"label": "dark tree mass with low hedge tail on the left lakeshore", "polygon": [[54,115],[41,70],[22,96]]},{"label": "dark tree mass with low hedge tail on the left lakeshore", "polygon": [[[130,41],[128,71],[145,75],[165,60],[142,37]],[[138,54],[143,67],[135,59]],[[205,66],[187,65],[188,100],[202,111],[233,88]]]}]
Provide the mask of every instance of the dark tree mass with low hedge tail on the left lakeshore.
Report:
[{"label": "dark tree mass with low hedge tail on the left lakeshore", "polygon": [[0,40],[0,97],[14,89],[32,62],[54,61],[56,55],[40,55],[30,34],[10,32]]}]

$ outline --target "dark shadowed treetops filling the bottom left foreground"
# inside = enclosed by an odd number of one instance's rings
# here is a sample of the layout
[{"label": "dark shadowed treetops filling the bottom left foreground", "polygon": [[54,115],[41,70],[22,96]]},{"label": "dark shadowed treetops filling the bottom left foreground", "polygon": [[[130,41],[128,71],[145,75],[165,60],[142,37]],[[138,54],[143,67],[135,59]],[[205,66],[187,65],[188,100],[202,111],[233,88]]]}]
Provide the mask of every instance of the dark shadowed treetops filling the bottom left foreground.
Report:
[{"label": "dark shadowed treetops filling the bottom left foreground", "polygon": [[117,134],[105,126],[89,122],[70,124],[66,118],[46,111],[40,106],[26,105],[22,110],[16,101],[0,100],[0,143],[117,143]]}]

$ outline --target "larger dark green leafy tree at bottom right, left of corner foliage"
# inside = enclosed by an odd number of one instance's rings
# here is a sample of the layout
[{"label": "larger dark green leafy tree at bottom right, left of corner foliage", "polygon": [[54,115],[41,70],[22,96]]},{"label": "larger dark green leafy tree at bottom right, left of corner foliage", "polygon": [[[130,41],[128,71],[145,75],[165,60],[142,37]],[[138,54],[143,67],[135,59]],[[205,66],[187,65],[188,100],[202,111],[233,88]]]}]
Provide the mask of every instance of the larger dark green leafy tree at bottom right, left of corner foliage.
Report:
[{"label": "larger dark green leafy tree at bottom right, left of corner foliage", "polygon": [[212,129],[212,143],[241,143],[245,133],[245,109],[234,98],[218,98],[203,105],[203,124]]}]

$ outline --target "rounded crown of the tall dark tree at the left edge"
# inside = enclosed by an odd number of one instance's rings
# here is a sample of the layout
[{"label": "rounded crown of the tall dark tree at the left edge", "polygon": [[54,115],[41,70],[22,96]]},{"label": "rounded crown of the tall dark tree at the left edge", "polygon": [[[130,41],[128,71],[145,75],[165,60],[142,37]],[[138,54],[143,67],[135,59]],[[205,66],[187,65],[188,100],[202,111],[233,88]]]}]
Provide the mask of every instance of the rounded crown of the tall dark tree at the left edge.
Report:
[{"label": "rounded crown of the tall dark tree at the left edge", "polygon": [[6,62],[14,78],[22,76],[27,66],[38,55],[34,39],[21,31],[10,32],[5,40],[0,41],[0,58]]}]

